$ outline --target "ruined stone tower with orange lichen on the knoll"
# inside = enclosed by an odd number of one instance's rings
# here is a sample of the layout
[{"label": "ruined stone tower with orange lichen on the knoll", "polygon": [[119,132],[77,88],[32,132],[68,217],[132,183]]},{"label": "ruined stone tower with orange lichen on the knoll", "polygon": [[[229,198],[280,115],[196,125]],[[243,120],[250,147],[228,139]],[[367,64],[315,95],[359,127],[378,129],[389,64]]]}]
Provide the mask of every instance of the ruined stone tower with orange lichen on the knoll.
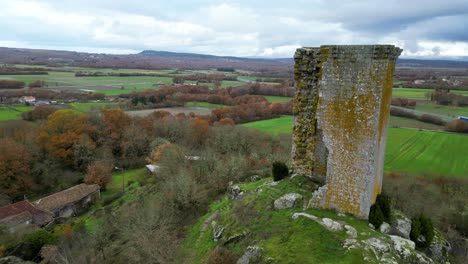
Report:
[{"label": "ruined stone tower with orange lichen on the knoll", "polygon": [[296,51],[293,166],[325,182],[310,206],[368,217],[382,186],[393,73],[400,53],[392,45]]}]

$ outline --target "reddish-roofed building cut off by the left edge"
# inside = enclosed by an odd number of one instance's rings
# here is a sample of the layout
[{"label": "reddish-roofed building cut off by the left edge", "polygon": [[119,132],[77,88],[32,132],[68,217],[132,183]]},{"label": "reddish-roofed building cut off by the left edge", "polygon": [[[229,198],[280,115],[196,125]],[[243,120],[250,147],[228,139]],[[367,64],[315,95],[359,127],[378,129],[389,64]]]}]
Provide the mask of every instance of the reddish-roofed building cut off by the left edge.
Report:
[{"label": "reddish-roofed building cut off by the left edge", "polygon": [[40,210],[29,201],[0,207],[0,225],[16,231],[27,226],[42,227],[52,221],[52,215]]}]

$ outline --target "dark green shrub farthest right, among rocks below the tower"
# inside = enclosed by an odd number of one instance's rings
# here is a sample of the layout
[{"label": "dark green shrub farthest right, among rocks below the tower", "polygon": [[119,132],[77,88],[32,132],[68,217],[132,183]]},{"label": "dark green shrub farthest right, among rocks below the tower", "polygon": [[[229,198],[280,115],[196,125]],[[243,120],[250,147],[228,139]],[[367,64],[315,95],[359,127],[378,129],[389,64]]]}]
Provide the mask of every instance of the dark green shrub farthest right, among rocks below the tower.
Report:
[{"label": "dark green shrub farthest right, among rocks below the tower", "polygon": [[[427,248],[434,239],[434,226],[432,220],[424,215],[419,215],[411,219],[411,232],[410,238],[418,248]],[[418,240],[423,236],[423,240]]]}]

